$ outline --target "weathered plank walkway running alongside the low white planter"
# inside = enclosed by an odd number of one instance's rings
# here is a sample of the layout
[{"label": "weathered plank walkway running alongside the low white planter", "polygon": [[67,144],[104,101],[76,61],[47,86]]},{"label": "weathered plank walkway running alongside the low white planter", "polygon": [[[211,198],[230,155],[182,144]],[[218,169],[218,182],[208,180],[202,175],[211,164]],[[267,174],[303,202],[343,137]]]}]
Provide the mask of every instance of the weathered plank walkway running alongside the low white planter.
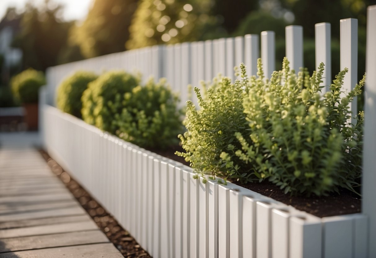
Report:
[{"label": "weathered plank walkway running alongside the low white planter", "polygon": [[0,258],[122,258],[31,147],[38,140],[0,134]]}]

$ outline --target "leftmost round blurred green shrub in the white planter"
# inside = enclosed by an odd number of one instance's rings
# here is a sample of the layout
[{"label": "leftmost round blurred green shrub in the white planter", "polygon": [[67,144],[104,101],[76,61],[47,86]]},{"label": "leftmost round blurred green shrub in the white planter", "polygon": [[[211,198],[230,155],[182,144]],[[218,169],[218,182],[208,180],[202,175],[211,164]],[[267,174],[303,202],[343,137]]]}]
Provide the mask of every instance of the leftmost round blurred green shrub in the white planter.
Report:
[{"label": "leftmost round blurred green shrub in the white planter", "polygon": [[97,79],[97,75],[87,71],[77,71],[65,79],[58,88],[56,102],[58,108],[64,112],[81,118],[82,93],[88,83]]}]

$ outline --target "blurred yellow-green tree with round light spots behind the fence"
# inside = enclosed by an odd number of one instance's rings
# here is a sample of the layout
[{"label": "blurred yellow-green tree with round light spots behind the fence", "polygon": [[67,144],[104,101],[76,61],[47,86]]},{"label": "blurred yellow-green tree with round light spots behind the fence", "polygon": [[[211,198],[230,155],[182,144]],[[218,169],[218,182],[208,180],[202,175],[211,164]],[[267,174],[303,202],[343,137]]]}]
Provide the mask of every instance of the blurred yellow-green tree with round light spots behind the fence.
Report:
[{"label": "blurred yellow-green tree with round light spots behind the fence", "polygon": [[229,36],[257,9],[258,0],[140,0],[126,48]]}]

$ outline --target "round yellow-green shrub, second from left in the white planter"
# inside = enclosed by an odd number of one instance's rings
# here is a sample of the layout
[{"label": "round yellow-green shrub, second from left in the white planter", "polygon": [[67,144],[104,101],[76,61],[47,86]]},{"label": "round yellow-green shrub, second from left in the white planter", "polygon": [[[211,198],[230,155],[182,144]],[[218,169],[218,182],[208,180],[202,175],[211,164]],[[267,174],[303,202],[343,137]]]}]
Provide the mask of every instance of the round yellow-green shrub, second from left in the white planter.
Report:
[{"label": "round yellow-green shrub, second from left in the white planter", "polygon": [[82,94],[83,120],[115,134],[118,126],[114,124],[114,118],[123,109],[120,100],[138,83],[138,78],[123,71],[110,71],[90,82]]}]

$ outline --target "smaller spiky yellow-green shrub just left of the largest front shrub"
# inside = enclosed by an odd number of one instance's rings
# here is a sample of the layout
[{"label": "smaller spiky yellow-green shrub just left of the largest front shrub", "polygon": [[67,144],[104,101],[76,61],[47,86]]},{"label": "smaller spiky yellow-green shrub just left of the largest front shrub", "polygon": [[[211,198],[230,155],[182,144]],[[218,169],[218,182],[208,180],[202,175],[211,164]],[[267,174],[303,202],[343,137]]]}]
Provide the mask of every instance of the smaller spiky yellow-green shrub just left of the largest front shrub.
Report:
[{"label": "smaller spiky yellow-green shrub just left of the largest front shrub", "polygon": [[176,155],[191,162],[197,172],[241,182],[255,179],[250,173],[253,166],[235,156],[241,149],[235,132],[247,134],[242,90],[247,81],[243,77],[243,82],[231,84],[229,78],[217,77],[204,97],[197,87],[194,88],[200,109],[196,110],[193,102],[187,102],[183,121],[187,131],[179,135],[186,152],[176,152]]}]

